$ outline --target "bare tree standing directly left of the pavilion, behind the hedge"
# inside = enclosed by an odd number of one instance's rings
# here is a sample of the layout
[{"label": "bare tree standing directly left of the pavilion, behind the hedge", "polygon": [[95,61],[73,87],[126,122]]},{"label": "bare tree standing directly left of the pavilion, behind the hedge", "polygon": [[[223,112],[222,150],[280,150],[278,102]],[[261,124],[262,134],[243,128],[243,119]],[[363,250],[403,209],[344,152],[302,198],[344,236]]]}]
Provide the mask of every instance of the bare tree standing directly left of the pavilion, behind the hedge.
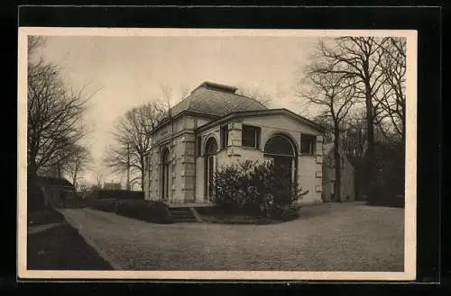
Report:
[{"label": "bare tree standing directly left of the pavilion, behind the hedge", "polygon": [[115,143],[107,149],[104,161],[115,174],[127,174],[127,189],[137,179],[143,189],[145,155],[152,144],[150,132],[160,116],[156,103],[147,103],[126,112],[115,124]]}]

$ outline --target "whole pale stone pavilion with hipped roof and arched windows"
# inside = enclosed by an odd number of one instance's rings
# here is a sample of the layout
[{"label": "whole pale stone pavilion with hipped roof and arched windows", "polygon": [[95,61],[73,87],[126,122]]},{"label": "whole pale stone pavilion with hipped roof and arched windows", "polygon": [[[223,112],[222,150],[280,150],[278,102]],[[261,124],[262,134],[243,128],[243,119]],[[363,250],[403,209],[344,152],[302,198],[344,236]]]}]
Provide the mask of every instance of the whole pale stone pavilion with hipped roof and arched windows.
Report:
[{"label": "whole pale stone pavilion with hipped roof and arched windows", "polygon": [[152,130],[146,156],[148,200],[207,203],[219,166],[272,158],[289,164],[287,177],[308,190],[304,203],[322,202],[324,130],[286,109],[268,109],[228,85],[204,82]]}]

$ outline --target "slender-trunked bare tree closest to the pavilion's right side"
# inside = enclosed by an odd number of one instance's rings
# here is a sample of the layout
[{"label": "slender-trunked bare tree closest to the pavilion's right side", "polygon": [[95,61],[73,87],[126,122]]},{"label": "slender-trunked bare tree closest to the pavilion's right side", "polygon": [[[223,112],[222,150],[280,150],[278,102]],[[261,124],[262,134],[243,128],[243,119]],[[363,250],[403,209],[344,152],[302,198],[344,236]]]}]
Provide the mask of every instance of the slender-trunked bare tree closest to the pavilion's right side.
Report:
[{"label": "slender-trunked bare tree closest to the pavilion's right side", "polygon": [[324,108],[323,116],[330,118],[334,140],[335,159],[335,198],[341,201],[341,155],[340,135],[342,124],[347,113],[356,100],[354,77],[333,72],[333,66],[328,72],[318,70],[318,64],[313,63],[307,68],[304,84],[306,91],[299,94],[301,98]]}]

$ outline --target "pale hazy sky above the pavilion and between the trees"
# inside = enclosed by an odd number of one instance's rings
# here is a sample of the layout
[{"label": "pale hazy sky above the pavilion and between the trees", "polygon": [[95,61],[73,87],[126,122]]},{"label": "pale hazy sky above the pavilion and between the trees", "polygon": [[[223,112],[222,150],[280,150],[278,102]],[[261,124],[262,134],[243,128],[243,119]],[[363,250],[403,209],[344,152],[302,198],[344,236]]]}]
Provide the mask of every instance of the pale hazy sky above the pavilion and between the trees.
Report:
[{"label": "pale hazy sky above the pavilion and between the trees", "polygon": [[101,166],[112,144],[115,121],[127,110],[161,98],[161,86],[175,98],[204,81],[252,87],[272,95],[273,108],[308,115],[296,97],[299,68],[318,38],[301,36],[48,36],[40,55],[60,64],[74,90],[95,93],[87,112],[87,143],[95,159],[84,180],[97,173],[117,181]]}]

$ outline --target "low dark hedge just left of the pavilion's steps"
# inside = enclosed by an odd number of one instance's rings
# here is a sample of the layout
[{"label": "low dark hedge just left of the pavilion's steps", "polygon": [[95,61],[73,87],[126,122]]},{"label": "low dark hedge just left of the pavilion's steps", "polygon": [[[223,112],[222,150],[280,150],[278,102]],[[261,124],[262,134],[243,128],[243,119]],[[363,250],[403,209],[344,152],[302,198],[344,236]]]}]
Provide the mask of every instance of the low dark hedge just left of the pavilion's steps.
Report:
[{"label": "low dark hedge just left of the pavilion's steps", "polygon": [[117,201],[115,213],[153,223],[171,223],[167,206],[162,202],[143,200]]}]

